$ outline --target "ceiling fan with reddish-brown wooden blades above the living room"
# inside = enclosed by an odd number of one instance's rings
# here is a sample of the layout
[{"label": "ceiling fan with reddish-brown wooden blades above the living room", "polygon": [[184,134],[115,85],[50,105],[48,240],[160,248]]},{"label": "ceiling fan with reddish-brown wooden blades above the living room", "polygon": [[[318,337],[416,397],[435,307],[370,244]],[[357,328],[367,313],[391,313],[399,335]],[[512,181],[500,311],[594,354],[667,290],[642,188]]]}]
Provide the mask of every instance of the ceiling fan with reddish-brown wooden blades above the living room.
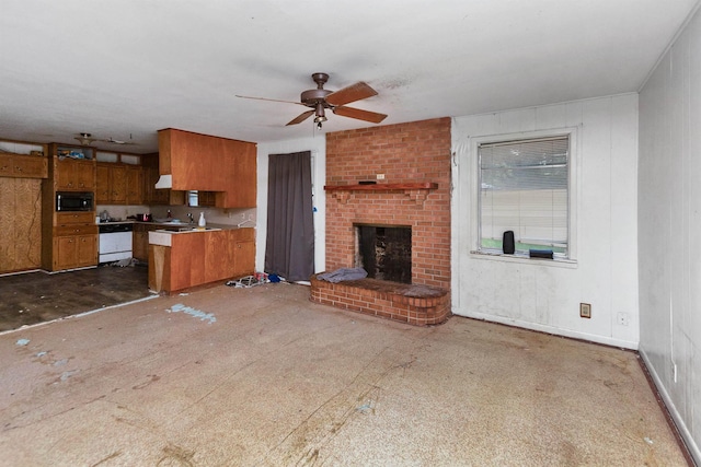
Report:
[{"label": "ceiling fan with reddish-brown wooden blades above the living room", "polygon": [[311,79],[317,83],[317,89],[302,92],[300,97],[301,102],[280,101],[277,98],[266,97],[252,97],[245,95],[237,95],[237,97],[254,98],[258,101],[285,102],[288,104],[303,105],[311,108],[311,110],[307,110],[289,121],[287,124],[288,126],[300,124],[313,115],[314,124],[317,124],[317,127],[321,129],[321,124],[327,120],[324,112],[326,108],[331,109],[331,112],[336,115],[356,118],[358,120],[370,121],[372,124],[379,124],[387,118],[387,115],[384,114],[363,110],[355,107],[346,107],[346,104],[349,104],[352,102],[361,101],[364,98],[377,95],[377,91],[375,91],[363,81],[350,84],[349,86],[343,87],[338,91],[329,91],[324,89],[324,84],[326,83],[326,81],[329,81],[327,73],[313,73],[311,75]]}]

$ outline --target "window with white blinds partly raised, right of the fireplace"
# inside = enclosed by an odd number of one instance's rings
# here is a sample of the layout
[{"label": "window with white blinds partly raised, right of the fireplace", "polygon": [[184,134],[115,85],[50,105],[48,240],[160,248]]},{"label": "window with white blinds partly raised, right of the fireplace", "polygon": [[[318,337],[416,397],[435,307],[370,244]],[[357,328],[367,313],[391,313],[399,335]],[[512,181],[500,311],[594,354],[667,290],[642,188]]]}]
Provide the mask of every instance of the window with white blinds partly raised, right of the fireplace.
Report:
[{"label": "window with white blinds partly raised, right of the fireplace", "polygon": [[517,254],[568,258],[571,136],[483,142],[478,157],[478,249],[502,252],[504,232],[514,231]]}]

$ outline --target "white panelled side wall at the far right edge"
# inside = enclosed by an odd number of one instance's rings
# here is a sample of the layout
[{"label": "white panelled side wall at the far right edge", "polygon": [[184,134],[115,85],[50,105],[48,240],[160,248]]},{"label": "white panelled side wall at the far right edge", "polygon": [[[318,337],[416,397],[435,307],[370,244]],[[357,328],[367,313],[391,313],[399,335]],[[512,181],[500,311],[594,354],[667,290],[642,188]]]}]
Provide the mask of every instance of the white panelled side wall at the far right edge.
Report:
[{"label": "white panelled side wall at the far right edge", "polygon": [[701,11],[640,96],[640,352],[701,465]]}]

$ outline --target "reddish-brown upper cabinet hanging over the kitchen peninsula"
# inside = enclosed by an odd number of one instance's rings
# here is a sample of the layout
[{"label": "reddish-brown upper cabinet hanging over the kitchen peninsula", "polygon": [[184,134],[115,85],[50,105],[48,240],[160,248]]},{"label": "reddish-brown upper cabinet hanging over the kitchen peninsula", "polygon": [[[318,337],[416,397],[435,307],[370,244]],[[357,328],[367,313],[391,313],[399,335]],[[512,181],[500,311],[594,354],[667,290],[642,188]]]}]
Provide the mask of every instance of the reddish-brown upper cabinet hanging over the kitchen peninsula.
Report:
[{"label": "reddish-brown upper cabinet hanging over the kitchen peninsula", "polygon": [[170,176],[164,187],[216,191],[218,208],[255,207],[255,143],[172,128],[160,130],[158,142],[160,175]]}]

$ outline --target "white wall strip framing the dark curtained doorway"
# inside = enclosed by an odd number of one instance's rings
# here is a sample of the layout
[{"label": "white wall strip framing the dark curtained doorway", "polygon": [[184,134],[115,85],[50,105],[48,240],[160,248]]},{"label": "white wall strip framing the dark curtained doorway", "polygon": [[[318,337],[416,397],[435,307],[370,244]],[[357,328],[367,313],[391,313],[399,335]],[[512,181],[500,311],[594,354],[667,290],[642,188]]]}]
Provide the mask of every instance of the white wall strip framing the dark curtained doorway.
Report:
[{"label": "white wall strip framing the dark curtained doorway", "polygon": [[314,272],[321,272],[326,265],[326,138],[317,133],[312,138],[258,143],[257,147],[257,230],[255,234],[255,270],[265,266],[265,238],[267,236],[267,167],[269,154],[311,151],[314,211]]}]

